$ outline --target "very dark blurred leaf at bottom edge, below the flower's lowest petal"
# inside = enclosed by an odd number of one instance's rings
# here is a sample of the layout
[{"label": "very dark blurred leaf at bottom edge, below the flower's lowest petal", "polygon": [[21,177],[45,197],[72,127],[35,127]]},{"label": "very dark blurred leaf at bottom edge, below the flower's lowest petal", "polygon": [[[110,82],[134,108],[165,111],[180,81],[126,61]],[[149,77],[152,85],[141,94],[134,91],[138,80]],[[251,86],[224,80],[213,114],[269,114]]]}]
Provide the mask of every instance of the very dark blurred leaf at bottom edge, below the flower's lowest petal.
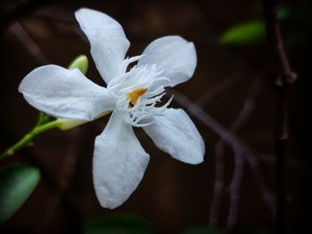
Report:
[{"label": "very dark blurred leaf at bottom edge, below the flower's lowest petal", "polygon": [[155,230],[150,222],[135,214],[109,214],[86,222],[86,234],[152,234]]}]

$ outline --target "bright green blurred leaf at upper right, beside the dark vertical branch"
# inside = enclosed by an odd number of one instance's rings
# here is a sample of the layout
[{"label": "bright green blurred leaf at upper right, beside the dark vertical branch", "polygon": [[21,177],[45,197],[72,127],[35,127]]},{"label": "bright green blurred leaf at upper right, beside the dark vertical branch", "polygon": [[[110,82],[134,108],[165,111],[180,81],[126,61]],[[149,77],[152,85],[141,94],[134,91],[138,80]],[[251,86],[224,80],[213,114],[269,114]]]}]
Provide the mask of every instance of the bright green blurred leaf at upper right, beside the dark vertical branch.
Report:
[{"label": "bright green blurred leaf at upper right, beside the dark vertical branch", "polygon": [[249,21],[228,29],[220,37],[220,44],[255,44],[263,41],[265,37],[265,23],[261,20]]}]

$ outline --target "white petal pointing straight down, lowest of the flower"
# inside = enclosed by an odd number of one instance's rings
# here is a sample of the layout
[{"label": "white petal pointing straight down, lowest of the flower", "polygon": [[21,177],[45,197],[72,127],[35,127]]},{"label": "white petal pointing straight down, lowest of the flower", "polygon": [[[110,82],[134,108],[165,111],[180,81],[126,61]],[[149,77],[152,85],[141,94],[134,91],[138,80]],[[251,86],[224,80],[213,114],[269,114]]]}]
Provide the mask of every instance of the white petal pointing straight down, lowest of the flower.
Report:
[{"label": "white petal pointing straight down, lowest of the flower", "polygon": [[101,206],[123,204],[141,182],[149,155],[137,140],[122,114],[113,112],[109,124],[96,137],[93,174],[94,190]]}]

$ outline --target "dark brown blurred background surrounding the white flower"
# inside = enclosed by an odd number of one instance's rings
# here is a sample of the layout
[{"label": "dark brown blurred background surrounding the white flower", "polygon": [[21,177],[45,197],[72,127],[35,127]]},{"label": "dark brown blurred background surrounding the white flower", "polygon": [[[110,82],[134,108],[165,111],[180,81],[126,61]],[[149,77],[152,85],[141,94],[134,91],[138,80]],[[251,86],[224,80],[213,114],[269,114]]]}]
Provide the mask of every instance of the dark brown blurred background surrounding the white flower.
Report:
[{"label": "dark brown blurred background surrounding the white flower", "polygon": [[[309,233],[304,230],[311,230],[312,217],[308,149],[312,2],[281,2],[278,17],[284,44],[299,77],[289,90],[286,229]],[[178,162],[136,129],[151,155],[150,164],[124,205],[104,209],[94,195],[92,157],[94,138],[108,117],[68,132],[52,130],[37,137],[32,147],[0,162],[0,169],[22,162],[41,173],[36,189],[0,226],[0,233],[273,233],[277,89],[261,1],[1,1],[0,151],[37,121],[37,110],[17,90],[32,69],[50,63],[67,67],[76,56],[86,54],[90,62],[86,76],[103,85],[74,18],[80,7],[118,20],[131,42],[129,56],[141,54],[160,36],[180,35],[193,41],[198,55],[193,78],[168,93],[175,94],[171,106],[185,109],[203,136],[205,161]],[[222,141],[228,133],[230,143]]]}]

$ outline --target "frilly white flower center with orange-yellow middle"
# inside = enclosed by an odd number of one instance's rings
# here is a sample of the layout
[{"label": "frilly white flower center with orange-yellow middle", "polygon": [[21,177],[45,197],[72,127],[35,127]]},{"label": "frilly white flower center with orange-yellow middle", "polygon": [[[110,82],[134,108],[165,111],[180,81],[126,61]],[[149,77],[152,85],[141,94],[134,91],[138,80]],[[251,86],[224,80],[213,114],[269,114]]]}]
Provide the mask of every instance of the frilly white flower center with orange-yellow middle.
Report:
[{"label": "frilly white flower center with orange-yellow middle", "polygon": [[161,77],[161,71],[156,65],[135,65],[127,70],[130,63],[141,57],[124,60],[119,74],[107,85],[111,95],[116,98],[116,109],[123,113],[127,124],[136,127],[152,125],[152,117],[162,116],[172,100],[171,97],[162,106],[158,105],[165,95],[165,88],[161,84],[168,78]]}]

